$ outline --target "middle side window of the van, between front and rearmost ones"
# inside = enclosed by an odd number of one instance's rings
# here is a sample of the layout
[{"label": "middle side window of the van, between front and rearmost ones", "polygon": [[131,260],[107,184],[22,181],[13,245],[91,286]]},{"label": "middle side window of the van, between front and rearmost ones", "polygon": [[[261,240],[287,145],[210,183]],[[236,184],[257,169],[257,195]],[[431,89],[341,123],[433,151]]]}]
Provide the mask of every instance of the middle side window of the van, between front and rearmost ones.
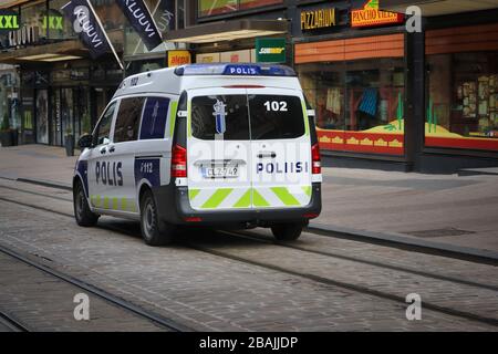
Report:
[{"label": "middle side window of the van, between front and rearmost ones", "polygon": [[123,98],[117,111],[114,143],[132,142],[138,137],[145,97]]}]

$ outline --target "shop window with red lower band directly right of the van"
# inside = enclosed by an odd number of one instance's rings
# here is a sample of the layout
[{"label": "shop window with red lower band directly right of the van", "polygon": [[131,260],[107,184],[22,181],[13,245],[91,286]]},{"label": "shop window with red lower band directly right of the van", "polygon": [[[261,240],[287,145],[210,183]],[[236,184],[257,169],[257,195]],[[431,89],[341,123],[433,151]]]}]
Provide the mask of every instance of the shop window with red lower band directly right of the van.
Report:
[{"label": "shop window with red lower band directly right of the van", "polygon": [[402,58],[301,64],[298,73],[324,149],[404,154]]}]

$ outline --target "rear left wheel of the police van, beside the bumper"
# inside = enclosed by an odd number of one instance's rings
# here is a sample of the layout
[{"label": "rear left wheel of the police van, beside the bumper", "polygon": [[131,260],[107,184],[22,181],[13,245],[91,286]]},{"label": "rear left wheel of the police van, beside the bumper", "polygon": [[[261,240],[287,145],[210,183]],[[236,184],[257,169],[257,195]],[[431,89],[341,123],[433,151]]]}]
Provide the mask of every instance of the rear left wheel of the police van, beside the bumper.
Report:
[{"label": "rear left wheel of the police van, beside the bumper", "polygon": [[141,229],[142,237],[148,246],[168,244],[173,240],[173,227],[162,225],[159,221],[151,190],[146,190],[141,199]]}]

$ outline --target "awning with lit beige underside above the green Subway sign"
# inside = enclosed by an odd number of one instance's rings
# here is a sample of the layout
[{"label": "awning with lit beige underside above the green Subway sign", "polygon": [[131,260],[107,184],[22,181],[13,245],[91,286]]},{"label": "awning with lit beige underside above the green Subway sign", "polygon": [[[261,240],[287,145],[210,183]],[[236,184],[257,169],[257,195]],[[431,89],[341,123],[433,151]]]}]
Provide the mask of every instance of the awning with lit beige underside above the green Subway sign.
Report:
[{"label": "awning with lit beige underside above the green Subway sign", "polygon": [[214,43],[288,32],[288,22],[279,20],[235,20],[212,22],[170,31],[164,38],[169,42]]}]

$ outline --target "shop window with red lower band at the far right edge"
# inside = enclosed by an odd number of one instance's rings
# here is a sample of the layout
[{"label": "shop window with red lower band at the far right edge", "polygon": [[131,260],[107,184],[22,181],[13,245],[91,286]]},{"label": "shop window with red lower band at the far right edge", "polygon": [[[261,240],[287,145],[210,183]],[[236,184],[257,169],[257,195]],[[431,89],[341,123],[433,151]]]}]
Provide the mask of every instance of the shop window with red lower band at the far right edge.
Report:
[{"label": "shop window with red lower band at the far right edge", "polygon": [[425,145],[498,150],[498,52],[427,56]]}]

